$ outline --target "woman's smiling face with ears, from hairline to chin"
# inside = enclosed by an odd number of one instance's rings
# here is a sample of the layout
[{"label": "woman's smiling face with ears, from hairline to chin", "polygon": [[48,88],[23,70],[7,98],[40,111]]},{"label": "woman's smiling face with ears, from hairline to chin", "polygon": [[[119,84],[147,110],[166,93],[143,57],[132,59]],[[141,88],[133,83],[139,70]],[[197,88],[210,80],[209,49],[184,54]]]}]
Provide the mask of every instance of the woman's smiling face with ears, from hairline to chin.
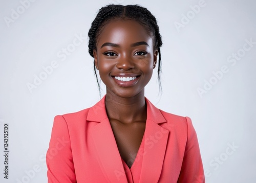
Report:
[{"label": "woman's smiling face with ears, from hairline to chin", "polygon": [[135,20],[113,20],[98,36],[95,66],[106,93],[129,98],[144,95],[157,61],[153,38]]}]

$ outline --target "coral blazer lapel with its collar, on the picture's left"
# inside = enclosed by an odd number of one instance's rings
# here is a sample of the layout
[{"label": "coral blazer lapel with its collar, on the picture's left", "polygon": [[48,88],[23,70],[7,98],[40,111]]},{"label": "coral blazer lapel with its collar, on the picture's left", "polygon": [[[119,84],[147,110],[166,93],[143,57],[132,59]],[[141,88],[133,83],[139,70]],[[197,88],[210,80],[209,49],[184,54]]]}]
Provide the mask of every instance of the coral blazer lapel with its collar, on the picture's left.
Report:
[{"label": "coral blazer lapel with its collar, on the picture's left", "polygon": [[105,111],[105,96],[90,108],[87,120],[99,122],[92,129],[92,138],[103,174],[109,182],[127,182],[120,153]]}]

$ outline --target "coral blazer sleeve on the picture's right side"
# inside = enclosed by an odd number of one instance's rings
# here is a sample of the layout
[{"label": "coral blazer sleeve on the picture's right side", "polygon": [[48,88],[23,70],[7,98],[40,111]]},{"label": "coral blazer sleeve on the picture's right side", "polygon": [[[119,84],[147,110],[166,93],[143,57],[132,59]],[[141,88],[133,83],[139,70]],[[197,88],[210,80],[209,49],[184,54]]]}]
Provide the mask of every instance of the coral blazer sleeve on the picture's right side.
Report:
[{"label": "coral blazer sleeve on the picture's right side", "polygon": [[178,182],[205,183],[203,164],[196,131],[190,118],[187,121],[187,142]]}]

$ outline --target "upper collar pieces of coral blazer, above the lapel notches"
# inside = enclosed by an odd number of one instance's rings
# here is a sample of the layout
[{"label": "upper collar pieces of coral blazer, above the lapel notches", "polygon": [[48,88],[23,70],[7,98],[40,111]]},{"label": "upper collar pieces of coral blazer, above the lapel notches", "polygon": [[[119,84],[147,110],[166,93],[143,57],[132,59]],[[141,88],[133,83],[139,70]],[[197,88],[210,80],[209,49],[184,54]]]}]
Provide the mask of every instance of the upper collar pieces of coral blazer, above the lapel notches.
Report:
[{"label": "upper collar pieces of coral blazer, above the lapel notches", "polygon": [[[105,109],[105,97],[106,96],[104,95],[104,97],[98,103],[90,108],[87,121],[101,122],[102,120],[108,118]],[[147,105],[147,120],[152,120],[156,124],[166,122],[160,110],[156,108],[146,97],[145,101]]]}]

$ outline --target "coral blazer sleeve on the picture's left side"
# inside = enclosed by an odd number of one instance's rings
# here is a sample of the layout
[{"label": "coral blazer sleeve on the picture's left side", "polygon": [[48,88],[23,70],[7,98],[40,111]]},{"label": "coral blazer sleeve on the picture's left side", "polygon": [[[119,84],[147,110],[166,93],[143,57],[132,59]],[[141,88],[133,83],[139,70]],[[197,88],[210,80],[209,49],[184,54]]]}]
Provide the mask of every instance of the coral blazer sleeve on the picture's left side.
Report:
[{"label": "coral blazer sleeve on the picture's left side", "polygon": [[68,125],[59,115],[54,118],[46,164],[48,183],[76,182]]}]

